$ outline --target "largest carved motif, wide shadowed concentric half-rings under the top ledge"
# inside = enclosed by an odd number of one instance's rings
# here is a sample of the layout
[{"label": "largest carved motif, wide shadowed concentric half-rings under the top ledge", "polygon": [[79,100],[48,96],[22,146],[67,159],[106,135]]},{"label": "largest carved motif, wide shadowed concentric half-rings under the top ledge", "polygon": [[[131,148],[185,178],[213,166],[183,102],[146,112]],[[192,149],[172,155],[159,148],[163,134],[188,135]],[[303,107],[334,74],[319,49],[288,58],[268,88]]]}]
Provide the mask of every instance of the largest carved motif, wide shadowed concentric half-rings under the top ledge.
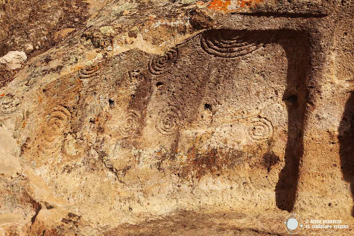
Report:
[{"label": "largest carved motif, wide shadowed concentric half-rings under the top ledge", "polygon": [[261,47],[261,39],[252,31],[208,30],[202,34],[201,47],[217,57],[239,57]]}]

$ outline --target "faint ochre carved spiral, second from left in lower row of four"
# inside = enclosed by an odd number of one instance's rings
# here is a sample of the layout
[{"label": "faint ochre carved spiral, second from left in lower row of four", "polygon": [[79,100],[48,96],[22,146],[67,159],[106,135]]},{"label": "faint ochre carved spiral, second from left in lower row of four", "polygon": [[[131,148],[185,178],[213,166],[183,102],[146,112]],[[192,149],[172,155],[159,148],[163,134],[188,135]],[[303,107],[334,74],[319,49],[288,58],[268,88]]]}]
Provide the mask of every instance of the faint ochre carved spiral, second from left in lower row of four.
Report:
[{"label": "faint ochre carved spiral, second from left in lower row of four", "polygon": [[136,133],[139,127],[140,115],[135,110],[126,112],[122,117],[122,122],[119,125],[119,133],[123,138],[131,137]]}]

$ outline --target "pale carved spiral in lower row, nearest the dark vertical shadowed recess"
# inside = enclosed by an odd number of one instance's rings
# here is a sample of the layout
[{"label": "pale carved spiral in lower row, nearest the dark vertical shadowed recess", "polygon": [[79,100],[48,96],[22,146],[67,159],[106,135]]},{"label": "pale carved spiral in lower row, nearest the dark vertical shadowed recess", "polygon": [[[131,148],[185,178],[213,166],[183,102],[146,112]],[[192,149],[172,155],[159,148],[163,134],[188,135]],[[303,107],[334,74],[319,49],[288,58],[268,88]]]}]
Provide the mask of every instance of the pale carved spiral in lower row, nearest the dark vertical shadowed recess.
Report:
[{"label": "pale carved spiral in lower row, nearest the dark vertical shadowed recess", "polygon": [[254,140],[266,140],[273,136],[273,125],[265,118],[256,117],[251,119],[249,133]]}]

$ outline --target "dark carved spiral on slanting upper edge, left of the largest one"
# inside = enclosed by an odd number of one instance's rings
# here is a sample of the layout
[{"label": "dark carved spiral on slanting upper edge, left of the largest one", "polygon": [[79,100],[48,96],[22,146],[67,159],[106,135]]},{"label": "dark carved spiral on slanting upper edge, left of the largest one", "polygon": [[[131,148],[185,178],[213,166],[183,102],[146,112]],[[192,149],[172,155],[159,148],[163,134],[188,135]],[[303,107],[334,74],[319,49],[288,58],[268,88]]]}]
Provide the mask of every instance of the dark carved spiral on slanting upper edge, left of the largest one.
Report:
[{"label": "dark carved spiral on slanting upper edge, left of the largest one", "polygon": [[177,60],[178,48],[173,48],[165,55],[154,57],[149,61],[149,71],[153,75],[160,75],[165,73],[171,65]]}]

